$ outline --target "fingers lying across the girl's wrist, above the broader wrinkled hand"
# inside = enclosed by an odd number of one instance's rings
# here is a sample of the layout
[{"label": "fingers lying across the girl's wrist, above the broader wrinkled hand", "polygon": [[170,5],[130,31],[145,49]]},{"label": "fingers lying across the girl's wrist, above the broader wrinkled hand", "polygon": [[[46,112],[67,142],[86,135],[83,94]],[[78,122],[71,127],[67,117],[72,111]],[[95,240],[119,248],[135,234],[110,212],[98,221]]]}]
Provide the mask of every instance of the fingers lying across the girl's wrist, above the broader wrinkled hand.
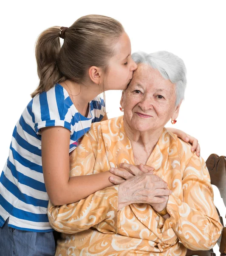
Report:
[{"label": "fingers lying across the girl's wrist, above the broader wrinkled hand", "polygon": [[138,166],[134,166],[129,163],[120,163],[119,168],[111,168],[110,172],[118,177],[109,177],[110,182],[115,185],[119,185],[124,181],[137,176],[141,175],[146,172],[153,173],[154,168],[151,166],[143,165],[142,163]]}]

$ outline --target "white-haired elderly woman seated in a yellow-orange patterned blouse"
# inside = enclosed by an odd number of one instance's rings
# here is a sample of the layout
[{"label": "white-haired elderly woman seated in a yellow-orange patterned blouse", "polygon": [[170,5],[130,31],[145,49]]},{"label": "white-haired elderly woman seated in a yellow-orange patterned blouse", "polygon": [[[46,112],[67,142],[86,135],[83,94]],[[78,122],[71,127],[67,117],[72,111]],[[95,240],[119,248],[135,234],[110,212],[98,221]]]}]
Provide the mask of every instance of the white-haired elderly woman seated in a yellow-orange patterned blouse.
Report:
[{"label": "white-haired elderly woman seated in a yellow-orange patterned blouse", "polygon": [[169,52],[133,59],[124,116],[94,123],[71,154],[71,176],[110,169],[125,180],[111,178],[118,185],[74,204],[49,205],[49,221],[63,233],[56,255],[184,256],[187,248],[209,250],[220,236],[204,160],[164,128],[184,99],[184,63]]}]

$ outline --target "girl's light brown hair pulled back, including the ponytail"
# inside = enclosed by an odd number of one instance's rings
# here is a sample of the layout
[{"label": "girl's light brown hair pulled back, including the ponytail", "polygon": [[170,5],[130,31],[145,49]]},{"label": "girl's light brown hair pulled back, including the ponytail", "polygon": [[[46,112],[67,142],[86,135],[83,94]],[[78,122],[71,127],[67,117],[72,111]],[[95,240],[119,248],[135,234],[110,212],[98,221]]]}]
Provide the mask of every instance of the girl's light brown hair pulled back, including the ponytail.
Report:
[{"label": "girl's light brown hair pulled back, including the ponytail", "polygon": [[66,29],[61,47],[59,29],[59,26],[46,29],[37,39],[35,55],[40,83],[31,93],[32,98],[66,79],[83,81],[91,66],[107,72],[114,44],[124,32],[121,23],[113,18],[87,15]]}]

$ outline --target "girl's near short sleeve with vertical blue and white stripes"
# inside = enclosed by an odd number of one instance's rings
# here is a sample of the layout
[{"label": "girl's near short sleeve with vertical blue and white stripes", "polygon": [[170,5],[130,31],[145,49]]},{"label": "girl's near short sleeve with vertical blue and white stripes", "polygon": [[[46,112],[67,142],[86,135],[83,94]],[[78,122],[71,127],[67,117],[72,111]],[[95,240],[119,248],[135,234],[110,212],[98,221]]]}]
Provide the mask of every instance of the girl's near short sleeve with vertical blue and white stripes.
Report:
[{"label": "girl's near short sleeve with vertical blue and white stripes", "polygon": [[68,97],[65,98],[62,87],[59,86],[54,86],[47,92],[35,96],[32,105],[35,132],[41,134],[41,128],[62,126],[73,134],[71,105],[71,101]]}]

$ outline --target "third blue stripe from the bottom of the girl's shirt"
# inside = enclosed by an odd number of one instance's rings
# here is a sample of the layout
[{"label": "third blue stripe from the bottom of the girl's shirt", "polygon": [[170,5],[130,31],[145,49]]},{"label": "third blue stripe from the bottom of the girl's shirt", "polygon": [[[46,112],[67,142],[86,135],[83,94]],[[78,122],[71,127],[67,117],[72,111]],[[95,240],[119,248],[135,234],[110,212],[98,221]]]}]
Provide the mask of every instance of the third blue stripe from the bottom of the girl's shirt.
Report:
[{"label": "third blue stripe from the bottom of the girl's shirt", "polygon": [[42,192],[46,192],[45,183],[42,183],[38,180],[34,180],[31,177],[24,175],[21,172],[18,172],[13,163],[9,160],[7,161],[7,167],[11,170],[12,175],[19,181],[19,183],[31,187],[32,189],[37,189]]}]

